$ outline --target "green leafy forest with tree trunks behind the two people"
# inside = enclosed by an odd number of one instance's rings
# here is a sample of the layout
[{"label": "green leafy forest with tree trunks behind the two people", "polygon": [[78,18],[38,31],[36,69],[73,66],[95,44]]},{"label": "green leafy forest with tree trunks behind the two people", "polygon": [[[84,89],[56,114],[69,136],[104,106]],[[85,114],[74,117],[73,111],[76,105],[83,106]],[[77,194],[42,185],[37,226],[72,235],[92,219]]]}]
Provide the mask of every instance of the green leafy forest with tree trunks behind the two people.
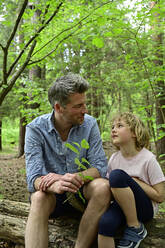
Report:
[{"label": "green leafy forest with tree trunks behind the two people", "polygon": [[51,111],[47,90],[71,71],[90,83],[88,112],[103,142],[113,115],[131,111],[164,169],[163,0],[6,0],[0,30],[1,153],[24,154],[26,124]]}]

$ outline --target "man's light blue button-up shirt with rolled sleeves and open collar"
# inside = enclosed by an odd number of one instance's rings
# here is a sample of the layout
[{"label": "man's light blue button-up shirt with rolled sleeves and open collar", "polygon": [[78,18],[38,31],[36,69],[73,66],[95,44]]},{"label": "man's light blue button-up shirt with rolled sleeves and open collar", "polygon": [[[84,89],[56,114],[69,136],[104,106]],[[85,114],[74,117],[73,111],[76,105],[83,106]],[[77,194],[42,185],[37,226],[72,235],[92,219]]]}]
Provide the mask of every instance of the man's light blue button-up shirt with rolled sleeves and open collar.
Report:
[{"label": "man's light blue button-up shirt with rolled sleeves and open collar", "polygon": [[[34,181],[37,177],[50,172],[57,174],[75,173],[78,166],[74,160],[77,156],[66,148],[58,131],[53,124],[54,112],[34,119],[26,127],[25,158],[26,175],[29,192],[34,192]],[[67,143],[81,143],[86,139],[89,149],[81,149],[80,159],[86,158],[91,166],[98,169],[100,175],[105,177],[107,158],[105,156],[99,128],[96,119],[85,114],[81,125],[73,126],[69,132]],[[75,146],[76,147],[76,146]],[[89,168],[88,164],[84,164]]]}]

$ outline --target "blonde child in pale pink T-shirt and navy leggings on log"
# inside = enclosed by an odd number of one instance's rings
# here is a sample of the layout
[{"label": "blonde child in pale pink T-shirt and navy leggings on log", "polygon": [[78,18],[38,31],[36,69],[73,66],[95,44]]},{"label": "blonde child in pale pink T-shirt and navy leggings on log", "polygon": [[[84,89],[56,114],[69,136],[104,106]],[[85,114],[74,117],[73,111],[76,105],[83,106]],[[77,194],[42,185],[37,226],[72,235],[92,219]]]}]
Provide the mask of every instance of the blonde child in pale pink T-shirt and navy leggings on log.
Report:
[{"label": "blonde child in pale pink T-shirt and navy leggings on log", "polygon": [[119,151],[108,163],[113,201],[100,219],[98,246],[114,248],[116,231],[126,224],[117,248],[137,248],[147,235],[143,222],[153,218],[158,203],[164,200],[165,177],[154,154],[146,149],[149,135],[135,115],[119,114],[111,137]]}]

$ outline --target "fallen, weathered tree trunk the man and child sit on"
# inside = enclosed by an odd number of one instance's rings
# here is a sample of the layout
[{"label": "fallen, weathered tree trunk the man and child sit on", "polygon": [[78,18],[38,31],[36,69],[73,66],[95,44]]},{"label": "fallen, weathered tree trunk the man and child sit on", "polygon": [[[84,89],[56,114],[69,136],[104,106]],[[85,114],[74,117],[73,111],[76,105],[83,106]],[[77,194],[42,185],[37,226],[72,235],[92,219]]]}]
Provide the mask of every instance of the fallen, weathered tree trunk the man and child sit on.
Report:
[{"label": "fallen, weathered tree trunk the man and child sit on", "polygon": [[[0,238],[24,245],[24,232],[29,204],[0,200]],[[73,248],[77,236],[80,216],[60,217],[49,221],[49,247]],[[140,248],[162,248],[165,241],[165,219],[156,218],[146,225],[147,238]],[[93,248],[97,245],[94,245]]]}]

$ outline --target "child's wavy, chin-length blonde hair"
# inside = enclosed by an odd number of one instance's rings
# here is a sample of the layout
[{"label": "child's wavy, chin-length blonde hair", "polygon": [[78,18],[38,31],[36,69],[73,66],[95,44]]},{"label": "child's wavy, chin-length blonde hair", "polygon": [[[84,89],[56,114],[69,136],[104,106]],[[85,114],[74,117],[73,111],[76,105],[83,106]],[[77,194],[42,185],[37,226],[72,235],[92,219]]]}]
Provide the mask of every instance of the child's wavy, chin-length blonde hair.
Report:
[{"label": "child's wavy, chin-length blonde hair", "polygon": [[112,122],[116,120],[123,120],[136,135],[135,145],[137,149],[149,147],[149,132],[144,123],[136,115],[129,112],[119,113],[113,118]]}]

